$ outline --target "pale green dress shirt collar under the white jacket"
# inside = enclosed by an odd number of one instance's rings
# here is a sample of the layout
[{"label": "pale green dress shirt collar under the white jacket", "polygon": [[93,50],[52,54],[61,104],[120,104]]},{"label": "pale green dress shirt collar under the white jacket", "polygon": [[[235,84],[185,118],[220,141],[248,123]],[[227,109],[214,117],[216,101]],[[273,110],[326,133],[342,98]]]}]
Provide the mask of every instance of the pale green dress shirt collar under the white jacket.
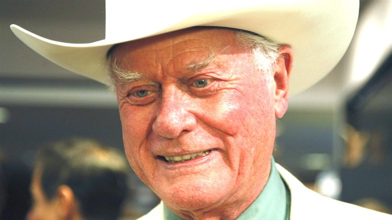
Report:
[{"label": "pale green dress shirt collar under the white jacket", "polygon": [[[290,192],[275,167],[275,160],[271,157],[271,172],[267,184],[256,200],[237,218],[248,219],[276,219],[288,220],[290,213]],[[163,205],[165,219],[181,220]]]}]

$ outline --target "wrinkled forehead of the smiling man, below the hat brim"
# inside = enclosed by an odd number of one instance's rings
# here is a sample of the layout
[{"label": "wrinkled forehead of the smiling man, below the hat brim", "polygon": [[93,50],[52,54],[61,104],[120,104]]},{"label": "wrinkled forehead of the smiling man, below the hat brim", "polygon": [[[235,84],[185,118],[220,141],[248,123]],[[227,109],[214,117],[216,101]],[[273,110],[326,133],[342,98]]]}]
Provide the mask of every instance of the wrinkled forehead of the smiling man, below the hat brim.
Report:
[{"label": "wrinkled forehead of the smiling man, below the hat brim", "polygon": [[134,62],[145,61],[144,56],[151,53],[154,56],[171,53],[173,58],[181,59],[190,58],[184,56],[209,56],[211,52],[232,51],[236,45],[235,36],[235,30],[194,27],[120,44],[112,56],[120,60],[131,58]]}]

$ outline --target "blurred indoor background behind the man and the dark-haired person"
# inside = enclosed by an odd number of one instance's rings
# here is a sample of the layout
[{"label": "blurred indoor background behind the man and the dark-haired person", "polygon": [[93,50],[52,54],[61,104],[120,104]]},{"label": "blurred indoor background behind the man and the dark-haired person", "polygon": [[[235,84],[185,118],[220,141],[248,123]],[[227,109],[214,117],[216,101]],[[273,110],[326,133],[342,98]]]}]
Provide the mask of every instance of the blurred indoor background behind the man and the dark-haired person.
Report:
[{"label": "blurred indoor background behind the man and the dark-haired person", "polygon": [[[121,150],[123,142],[114,94],[37,55],[11,24],[56,41],[94,42],[105,38],[105,1],[0,0],[0,219],[23,219],[35,149],[72,136]],[[347,53],[327,77],[289,100],[274,151],[278,163],[319,193],[389,213],[391,48],[392,1],[361,0]],[[159,200],[130,176],[129,204],[145,213]]]}]

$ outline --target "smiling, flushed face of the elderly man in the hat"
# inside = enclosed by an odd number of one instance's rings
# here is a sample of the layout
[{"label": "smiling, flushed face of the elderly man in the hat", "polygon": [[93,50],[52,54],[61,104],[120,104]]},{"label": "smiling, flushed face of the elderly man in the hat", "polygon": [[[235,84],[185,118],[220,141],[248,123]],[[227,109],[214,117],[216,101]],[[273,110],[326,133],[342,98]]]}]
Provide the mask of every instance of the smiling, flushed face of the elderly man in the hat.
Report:
[{"label": "smiling, flushed face of the elderly man in the hat", "polygon": [[[213,209],[255,196],[269,175],[273,74],[256,70],[235,32],[187,29],[119,45],[127,158],[170,209]],[[174,162],[175,161],[175,162]]]}]

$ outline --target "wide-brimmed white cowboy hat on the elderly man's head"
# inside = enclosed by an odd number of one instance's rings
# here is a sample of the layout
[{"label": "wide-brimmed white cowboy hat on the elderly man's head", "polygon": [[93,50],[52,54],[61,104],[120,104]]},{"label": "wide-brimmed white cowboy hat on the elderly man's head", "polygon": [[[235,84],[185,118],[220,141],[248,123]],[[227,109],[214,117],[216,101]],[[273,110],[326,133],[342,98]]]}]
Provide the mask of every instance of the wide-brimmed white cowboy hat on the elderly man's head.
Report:
[{"label": "wide-brimmed white cowboy hat on the elderly man's head", "polygon": [[251,31],[294,52],[290,96],[312,86],[339,62],[354,34],[358,0],[106,1],[106,38],[72,44],[11,25],[48,60],[107,84],[107,52],[115,44],[193,26]]}]

